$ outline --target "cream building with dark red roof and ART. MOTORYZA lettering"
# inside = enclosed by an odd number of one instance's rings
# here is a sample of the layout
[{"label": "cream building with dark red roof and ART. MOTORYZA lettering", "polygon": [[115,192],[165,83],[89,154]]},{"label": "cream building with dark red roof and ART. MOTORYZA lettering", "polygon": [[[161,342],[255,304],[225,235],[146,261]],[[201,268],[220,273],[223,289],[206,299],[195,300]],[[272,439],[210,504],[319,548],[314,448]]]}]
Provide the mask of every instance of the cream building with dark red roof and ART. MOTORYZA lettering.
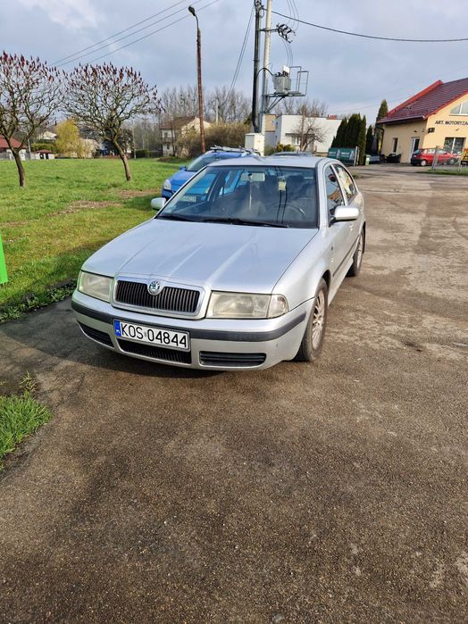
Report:
[{"label": "cream building with dark red roof and ART. MOTORYZA lettering", "polygon": [[468,78],[438,80],[378,122],[384,129],[381,153],[401,154],[401,162],[422,148],[459,154],[468,147]]}]

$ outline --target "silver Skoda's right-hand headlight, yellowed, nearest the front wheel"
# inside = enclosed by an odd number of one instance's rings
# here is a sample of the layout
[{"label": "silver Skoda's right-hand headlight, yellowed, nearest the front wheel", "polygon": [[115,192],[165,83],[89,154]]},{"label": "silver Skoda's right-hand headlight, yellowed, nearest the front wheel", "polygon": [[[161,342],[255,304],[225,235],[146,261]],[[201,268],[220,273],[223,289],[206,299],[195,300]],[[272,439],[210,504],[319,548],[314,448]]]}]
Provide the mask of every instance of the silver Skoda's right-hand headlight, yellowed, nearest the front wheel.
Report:
[{"label": "silver Skoda's right-hand headlight, yellowed, nearest the front wheel", "polygon": [[207,318],[272,319],[288,312],[283,295],[250,295],[249,293],[212,293]]}]

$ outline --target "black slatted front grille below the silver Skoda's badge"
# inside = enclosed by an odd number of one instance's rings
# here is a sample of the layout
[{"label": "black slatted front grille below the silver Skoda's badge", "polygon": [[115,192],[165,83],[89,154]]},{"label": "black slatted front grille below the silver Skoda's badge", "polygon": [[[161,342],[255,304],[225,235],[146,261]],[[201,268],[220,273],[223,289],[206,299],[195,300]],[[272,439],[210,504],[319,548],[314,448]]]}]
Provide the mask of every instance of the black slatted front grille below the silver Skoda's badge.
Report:
[{"label": "black slatted front grille below the silver Skoda's badge", "polygon": [[115,301],[119,304],[134,305],[138,308],[160,310],[162,312],[196,312],[200,293],[188,288],[165,286],[158,295],[150,295],[146,284],[119,279],[115,289]]}]

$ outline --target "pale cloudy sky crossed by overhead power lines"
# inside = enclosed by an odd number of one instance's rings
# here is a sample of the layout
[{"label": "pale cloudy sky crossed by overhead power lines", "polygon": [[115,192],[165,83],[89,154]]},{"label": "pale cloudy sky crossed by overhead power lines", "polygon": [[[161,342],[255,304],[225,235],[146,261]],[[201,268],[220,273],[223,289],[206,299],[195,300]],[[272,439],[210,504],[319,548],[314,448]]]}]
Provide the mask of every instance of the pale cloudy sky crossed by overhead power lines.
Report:
[{"label": "pale cloudy sky crossed by overhead power lines", "polygon": [[[205,88],[230,86],[253,5],[251,0],[211,3],[191,3],[202,32]],[[0,0],[1,45],[10,53],[58,62],[64,70],[79,62],[131,65],[160,91],[195,84],[196,21],[188,13],[188,4],[189,0]],[[368,35],[468,37],[466,0],[272,0],[272,4],[273,11],[285,15],[294,13],[305,21]],[[151,16],[155,17],[148,20]],[[468,77],[468,41],[377,41],[316,29],[278,15],[272,20],[274,26],[288,23],[295,30],[290,64],[310,72],[307,96],[326,103],[329,114],[361,112],[372,122],[383,98],[391,108],[435,80]],[[84,50],[140,21],[111,41]],[[178,22],[171,24],[174,21]],[[154,34],[146,37],[149,33]],[[116,41],[120,37],[126,38]],[[135,42],[139,37],[145,38]],[[118,49],[122,46],[126,47]],[[249,97],[253,57],[252,25],[236,83]],[[272,34],[271,61],[273,72],[288,64],[287,49],[277,33]]]}]

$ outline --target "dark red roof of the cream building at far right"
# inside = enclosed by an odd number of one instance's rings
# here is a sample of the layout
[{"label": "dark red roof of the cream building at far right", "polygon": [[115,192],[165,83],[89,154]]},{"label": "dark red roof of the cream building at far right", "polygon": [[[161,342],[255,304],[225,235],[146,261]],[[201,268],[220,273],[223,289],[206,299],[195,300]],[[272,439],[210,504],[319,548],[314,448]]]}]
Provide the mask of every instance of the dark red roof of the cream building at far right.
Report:
[{"label": "dark red roof of the cream building at far right", "polygon": [[393,108],[378,123],[427,119],[429,115],[433,115],[465,94],[468,94],[468,78],[452,80],[451,82],[437,80],[415,96],[405,100],[403,104]]}]

